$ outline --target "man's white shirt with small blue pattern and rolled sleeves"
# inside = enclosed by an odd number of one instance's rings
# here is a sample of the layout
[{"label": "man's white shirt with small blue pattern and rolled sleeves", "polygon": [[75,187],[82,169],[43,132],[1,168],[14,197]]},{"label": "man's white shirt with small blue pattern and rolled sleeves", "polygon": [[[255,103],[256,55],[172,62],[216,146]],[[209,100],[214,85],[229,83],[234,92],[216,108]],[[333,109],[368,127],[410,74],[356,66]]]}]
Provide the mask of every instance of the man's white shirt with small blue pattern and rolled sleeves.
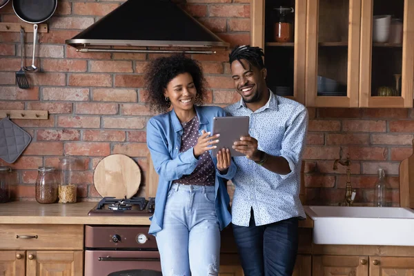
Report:
[{"label": "man's white shirt with small blue pattern and rolled sleeves", "polygon": [[270,91],[266,105],[255,112],[246,108],[243,99],[225,110],[231,116],[250,117],[249,134],[257,139],[258,149],[268,155],[284,157],[291,170],[288,175],[279,175],[246,157],[233,157],[237,165],[232,179],[235,184],[233,224],[248,226],[251,208],[256,226],[290,217],[305,219],[299,189],[302,152],[308,128],[306,108]]}]

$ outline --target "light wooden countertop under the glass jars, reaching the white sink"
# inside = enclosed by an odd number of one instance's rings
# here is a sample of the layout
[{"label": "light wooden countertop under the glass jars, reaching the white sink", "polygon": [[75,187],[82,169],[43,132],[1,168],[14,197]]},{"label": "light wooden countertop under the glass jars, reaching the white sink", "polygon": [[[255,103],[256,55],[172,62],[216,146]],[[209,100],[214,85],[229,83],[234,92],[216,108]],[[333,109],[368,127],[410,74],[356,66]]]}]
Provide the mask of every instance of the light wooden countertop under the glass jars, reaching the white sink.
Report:
[{"label": "light wooden countertop under the glass jars, reaching the white sink", "polygon": [[[39,204],[37,201],[12,201],[0,204],[0,224],[112,224],[150,225],[147,216],[88,216],[97,202],[75,204]],[[301,228],[313,228],[307,217]]]}]

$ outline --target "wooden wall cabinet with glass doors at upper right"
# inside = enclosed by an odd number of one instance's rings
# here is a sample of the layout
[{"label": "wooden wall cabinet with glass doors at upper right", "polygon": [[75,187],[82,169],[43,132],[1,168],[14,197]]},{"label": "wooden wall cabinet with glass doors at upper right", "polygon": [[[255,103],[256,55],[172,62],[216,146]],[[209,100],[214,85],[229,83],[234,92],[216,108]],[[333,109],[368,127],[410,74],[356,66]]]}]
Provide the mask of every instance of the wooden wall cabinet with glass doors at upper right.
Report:
[{"label": "wooden wall cabinet with glass doors at upper right", "polygon": [[[279,6],[295,8],[289,43],[274,39]],[[413,1],[252,0],[251,12],[251,44],[264,48],[276,94],[293,86],[288,97],[309,107],[413,107]],[[375,23],[381,14],[388,25]]]}]

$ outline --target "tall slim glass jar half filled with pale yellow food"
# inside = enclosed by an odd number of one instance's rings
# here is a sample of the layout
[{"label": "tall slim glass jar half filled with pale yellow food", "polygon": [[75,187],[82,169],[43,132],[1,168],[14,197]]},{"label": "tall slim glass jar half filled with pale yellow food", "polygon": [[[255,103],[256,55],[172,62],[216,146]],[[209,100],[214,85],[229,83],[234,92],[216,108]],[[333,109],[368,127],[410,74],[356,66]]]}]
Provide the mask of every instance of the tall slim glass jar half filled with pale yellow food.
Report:
[{"label": "tall slim glass jar half filled with pale yellow food", "polygon": [[60,159],[59,203],[76,202],[76,185],[72,181],[72,170],[76,159],[63,157]]}]

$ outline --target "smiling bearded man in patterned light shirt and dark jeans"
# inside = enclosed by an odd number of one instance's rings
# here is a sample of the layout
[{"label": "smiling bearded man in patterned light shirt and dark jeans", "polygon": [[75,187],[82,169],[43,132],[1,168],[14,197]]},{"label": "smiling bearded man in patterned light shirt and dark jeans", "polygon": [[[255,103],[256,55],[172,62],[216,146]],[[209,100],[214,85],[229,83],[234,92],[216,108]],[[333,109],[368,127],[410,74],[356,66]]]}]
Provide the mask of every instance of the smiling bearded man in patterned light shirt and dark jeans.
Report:
[{"label": "smiling bearded man in patterned light shirt and dark jeans", "polygon": [[233,148],[235,194],[232,223],[244,275],[292,275],[298,246],[300,166],[308,126],[306,108],[278,97],[266,86],[261,48],[236,47],[229,55],[235,88],[242,99],[226,108],[249,116],[248,137]]}]

